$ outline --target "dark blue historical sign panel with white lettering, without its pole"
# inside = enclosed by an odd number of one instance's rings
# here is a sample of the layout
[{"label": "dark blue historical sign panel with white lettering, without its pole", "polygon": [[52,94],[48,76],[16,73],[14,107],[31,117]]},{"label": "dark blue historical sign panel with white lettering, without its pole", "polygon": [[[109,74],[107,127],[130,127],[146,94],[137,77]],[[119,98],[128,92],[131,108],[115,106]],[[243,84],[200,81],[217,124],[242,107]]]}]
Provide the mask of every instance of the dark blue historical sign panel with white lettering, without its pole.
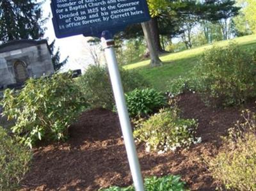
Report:
[{"label": "dark blue historical sign panel with white lettering, without its pole", "polygon": [[57,38],[115,34],[150,19],[146,0],[52,0],[51,8]]}]

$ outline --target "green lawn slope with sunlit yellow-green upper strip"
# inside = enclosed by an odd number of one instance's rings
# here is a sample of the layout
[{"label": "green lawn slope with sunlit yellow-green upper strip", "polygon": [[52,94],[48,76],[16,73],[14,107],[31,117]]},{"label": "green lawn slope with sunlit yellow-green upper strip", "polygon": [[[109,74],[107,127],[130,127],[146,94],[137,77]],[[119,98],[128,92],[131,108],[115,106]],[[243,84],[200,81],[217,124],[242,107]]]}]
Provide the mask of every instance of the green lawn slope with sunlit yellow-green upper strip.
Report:
[{"label": "green lawn slope with sunlit yellow-green upper strip", "polygon": [[[256,35],[243,36],[235,38],[234,40],[244,49],[256,48]],[[226,46],[230,40],[214,43],[218,46]],[[163,66],[150,67],[149,60],[133,63],[131,65],[124,66],[125,69],[138,69],[138,71],[151,83],[152,86],[160,91],[164,91],[166,84],[169,80],[179,76],[188,76],[189,71],[196,66],[200,55],[207,50],[211,49],[212,45],[204,45],[202,47],[196,47],[195,49],[184,50],[182,52],[164,54],[161,56]]]}]

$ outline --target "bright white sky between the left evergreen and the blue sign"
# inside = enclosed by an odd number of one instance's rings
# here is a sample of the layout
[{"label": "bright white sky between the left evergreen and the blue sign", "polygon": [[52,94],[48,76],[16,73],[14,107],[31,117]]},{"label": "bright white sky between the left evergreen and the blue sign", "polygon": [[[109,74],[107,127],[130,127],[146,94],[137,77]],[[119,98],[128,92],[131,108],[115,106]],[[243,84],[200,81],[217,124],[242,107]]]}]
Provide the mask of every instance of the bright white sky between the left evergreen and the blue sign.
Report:
[{"label": "bright white sky between the left evergreen and the blue sign", "polygon": [[[87,65],[92,63],[90,56],[86,55],[86,38],[83,35],[71,36],[67,38],[56,38],[52,25],[52,13],[51,13],[51,0],[46,0],[42,6],[44,17],[50,14],[50,19],[47,21],[45,26],[44,38],[49,38],[49,42],[56,40],[56,47],[60,47],[61,60],[69,56],[68,63],[62,68],[63,70],[76,70],[84,69]],[[84,50],[85,49],[85,50]]]}]

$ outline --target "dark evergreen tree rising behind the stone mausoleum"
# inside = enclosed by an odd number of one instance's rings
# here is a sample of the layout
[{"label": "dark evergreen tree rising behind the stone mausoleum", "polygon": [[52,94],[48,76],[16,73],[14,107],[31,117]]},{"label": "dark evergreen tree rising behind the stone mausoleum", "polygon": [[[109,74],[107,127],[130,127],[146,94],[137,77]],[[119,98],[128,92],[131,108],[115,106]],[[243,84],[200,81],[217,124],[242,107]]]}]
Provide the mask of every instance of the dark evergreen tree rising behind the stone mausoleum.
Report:
[{"label": "dark evergreen tree rising behind the stone mausoleum", "polygon": [[44,36],[42,27],[42,1],[1,0],[0,42],[19,39],[40,39]]}]

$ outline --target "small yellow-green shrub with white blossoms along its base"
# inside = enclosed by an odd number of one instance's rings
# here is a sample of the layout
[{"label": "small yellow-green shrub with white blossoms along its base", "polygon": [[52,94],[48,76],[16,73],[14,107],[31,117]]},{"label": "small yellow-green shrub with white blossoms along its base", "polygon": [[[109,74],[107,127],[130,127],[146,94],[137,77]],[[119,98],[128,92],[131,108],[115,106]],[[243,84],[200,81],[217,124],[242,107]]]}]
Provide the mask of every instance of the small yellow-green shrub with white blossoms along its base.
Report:
[{"label": "small yellow-green shrub with white blossoms along its base", "polygon": [[195,138],[197,126],[195,119],[180,118],[177,109],[161,109],[136,126],[134,137],[139,142],[146,143],[146,151],[175,151],[200,141]]}]

